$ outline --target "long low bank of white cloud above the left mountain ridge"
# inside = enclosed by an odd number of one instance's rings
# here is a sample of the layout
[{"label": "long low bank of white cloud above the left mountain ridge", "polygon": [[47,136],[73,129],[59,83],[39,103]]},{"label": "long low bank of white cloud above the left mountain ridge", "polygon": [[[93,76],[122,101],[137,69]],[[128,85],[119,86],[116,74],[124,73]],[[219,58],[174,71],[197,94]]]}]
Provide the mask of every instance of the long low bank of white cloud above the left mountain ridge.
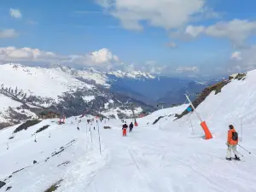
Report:
[{"label": "long low bank of white cloud above the left mountain ridge", "polygon": [[21,62],[30,66],[41,66],[59,62],[69,67],[95,67],[99,70],[122,70],[131,72],[141,70],[148,73],[162,73],[166,66],[160,66],[157,61],[145,63],[125,63],[109,49],[103,48],[84,55],[58,55],[53,52],[32,48],[0,48],[0,62]]}]

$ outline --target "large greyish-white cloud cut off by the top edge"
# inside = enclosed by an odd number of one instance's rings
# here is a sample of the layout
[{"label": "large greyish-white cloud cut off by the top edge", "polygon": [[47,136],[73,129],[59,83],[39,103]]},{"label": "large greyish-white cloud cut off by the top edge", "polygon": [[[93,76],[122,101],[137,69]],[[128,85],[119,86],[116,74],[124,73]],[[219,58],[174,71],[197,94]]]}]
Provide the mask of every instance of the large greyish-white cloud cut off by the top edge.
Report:
[{"label": "large greyish-white cloud cut off by the top edge", "polygon": [[[141,21],[149,26],[165,29],[178,28],[201,15],[206,8],[205,0],[96,0],[122,26],[130,30],[142,30]],[[205,9],[206,10],[206,9]],[[207,11],[205,11],[207,12]]]}]

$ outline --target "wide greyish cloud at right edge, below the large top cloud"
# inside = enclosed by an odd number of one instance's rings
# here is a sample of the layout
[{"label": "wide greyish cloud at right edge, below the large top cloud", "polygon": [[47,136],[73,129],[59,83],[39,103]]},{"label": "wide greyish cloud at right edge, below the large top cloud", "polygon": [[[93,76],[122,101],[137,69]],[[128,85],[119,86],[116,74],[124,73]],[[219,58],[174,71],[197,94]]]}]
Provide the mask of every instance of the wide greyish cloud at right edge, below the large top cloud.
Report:
[{"label": "wide greyish cloud at right edge, below the large top cloud", "polygon": [[256,21],[230,20],[220,21],[212,26],[187,26],[185,34],[196,38],[201,34],[213,38],[230,38],[236,44],[242,44],[256,32]]}]

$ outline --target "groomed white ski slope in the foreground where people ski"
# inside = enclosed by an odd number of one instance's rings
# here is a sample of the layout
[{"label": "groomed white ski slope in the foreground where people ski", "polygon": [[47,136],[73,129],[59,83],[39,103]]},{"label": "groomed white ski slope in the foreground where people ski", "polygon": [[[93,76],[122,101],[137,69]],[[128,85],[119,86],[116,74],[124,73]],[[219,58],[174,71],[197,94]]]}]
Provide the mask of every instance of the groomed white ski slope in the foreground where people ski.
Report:
[{"label": "groomed white ski slope in the foreground where people ski", "polygon": [[[46,191],[55,183],[56,192],[256,191],[255,81],[256,71],[247,73],[245,80],[232,80],[197,108],[212,131],[211,140],[203,139],[194,113],[173,121],[187,105],[137,119],[128,137],[122,137],[119,119],[98,126],[96,119],[87,125],[86,117],[80,124],[73,117],[65,125],[42,121],[15,134],[16,127],[0,131],[0,181],[5,183],[0,191]],[[224,159],[230,124],[239,132],[240,144],[252,152],[238,147],[241,161]],[[50,126],[32,135],[44,125]],[[103,129],[105,125],[111,129]]]}]

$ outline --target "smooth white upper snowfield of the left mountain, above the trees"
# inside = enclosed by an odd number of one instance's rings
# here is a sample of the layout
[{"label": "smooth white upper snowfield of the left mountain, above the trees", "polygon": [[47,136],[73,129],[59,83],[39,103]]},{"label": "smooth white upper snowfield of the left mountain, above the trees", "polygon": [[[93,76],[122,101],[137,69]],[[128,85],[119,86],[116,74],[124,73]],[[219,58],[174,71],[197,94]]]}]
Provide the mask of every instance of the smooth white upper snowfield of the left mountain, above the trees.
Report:
[{"label": "smooth white upper snowfield of the left mountain, above the trees", "polygon": [[84,84],[58,68],[25,67],[19,64],[0,65],[0,83],[3,88],[26,92],[27,96],[49,97],[55,100],[62,93],[78,88],[92,89],[91,84]]}]

